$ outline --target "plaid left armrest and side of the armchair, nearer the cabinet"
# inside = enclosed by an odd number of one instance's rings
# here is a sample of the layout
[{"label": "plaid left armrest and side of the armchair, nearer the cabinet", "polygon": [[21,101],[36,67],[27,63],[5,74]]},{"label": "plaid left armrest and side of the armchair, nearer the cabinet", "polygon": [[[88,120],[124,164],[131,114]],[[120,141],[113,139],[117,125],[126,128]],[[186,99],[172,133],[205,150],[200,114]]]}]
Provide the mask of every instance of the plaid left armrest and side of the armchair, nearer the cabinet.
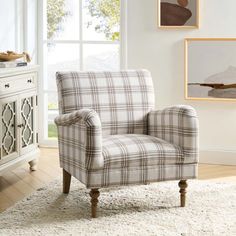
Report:
[{"label": "plaid left armrest and side of the armchair, nearer the cabinet", "polygon": [[55,118],[61,167],[70,171],[103,167],[102,128],[98,114],[81,109]]}]

